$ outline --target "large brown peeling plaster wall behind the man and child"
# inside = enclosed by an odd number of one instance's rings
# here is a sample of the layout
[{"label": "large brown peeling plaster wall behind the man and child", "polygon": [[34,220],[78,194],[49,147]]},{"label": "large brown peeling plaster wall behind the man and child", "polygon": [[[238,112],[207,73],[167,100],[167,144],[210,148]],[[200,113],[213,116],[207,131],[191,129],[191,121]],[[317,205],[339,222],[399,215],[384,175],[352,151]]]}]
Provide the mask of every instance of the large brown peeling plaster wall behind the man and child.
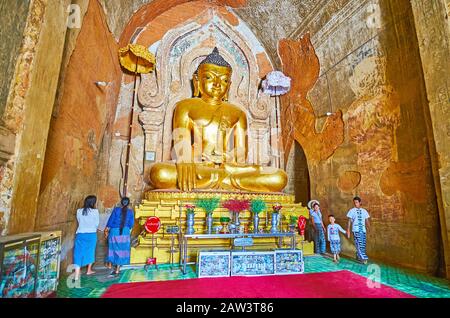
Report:
[{"label": "large brown peeling plaster wall behind the man and child", "polygon": [[[311,196],[343,226],[352,197],[361,196],[372,216],[369,257],[435,274],[438,212],[411,6],[372,0],[350,2],[334,15],[328,10],[322,16],[329,20],[319,15],[303,26],[320,62],[308,98],[319,132],[327,112],[342,111],[343,141],[329,157],[308,160]],[[324,138],[336,140],[339,131]],[[345,239],[343,250],[353,256],[353,242]]]}]

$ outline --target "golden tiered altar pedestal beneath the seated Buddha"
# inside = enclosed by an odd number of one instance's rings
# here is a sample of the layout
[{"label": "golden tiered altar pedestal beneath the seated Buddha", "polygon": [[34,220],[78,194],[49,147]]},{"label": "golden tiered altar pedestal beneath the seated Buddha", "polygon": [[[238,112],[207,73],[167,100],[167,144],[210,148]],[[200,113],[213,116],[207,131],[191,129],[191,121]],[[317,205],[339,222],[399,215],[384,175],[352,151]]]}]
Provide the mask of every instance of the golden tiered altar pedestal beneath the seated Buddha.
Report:
[{"label": "golden tiered altar pedestal beneath the seated Buddha", "polygon": [[[157,258],[157,262],[169,263],[170,262],[170,250],[172,243],[172,235],[166,233],[166,227],[170,225],[177,225],[180,227],[180,231],[186,230],[186,204],[195,204],[197,199],[220,197],[221,201],[228,199],[262,199],[266,202],[269,212],[261,212],[259,228],[264,230],[270,230],[271,227],[271,207],[275,203],[280,203],[283,208],[281,210],[282,222],[281,231],[285,231],[288,228],[289,216],[305,216],[309,217],[308,209],[303,207],[301,203],[294,203],[295,199],[292,195],[286,195],[283,193],[254,193],[254,192],[227,192],[227,191],[194,191],[194,192],[182,192],[182,191],[163,191],[156,190],[150,191],[145,194],[145,199],[136,208],[135,217],[137,223],[143,228],[143,225],[148,217],[157,216],[161,219],[162,227],[158,233],[154,234],[154,254],[153,257]],[[230,217],[230,212],[222,207],[217,208],[213,213],[214,225],[220,225],[220,217]],[[240,214],[241,224],[247,224],[248,229],[251,231],[252,219],[251,213],[248,211]],[[195,232],[204,233],[206,230],[206,214],[202,209],[196,208],[195,213]],[[175,236],[175,247],[178,250],[174,254],[174,262],[179,263],[179,235]],[[304,255],[311,255],[314,253],[314,246],[312,242],[304,241],[304,237],[296,235],[296,246],[302,248]],[[276,249],[278,240],[275,238],[259,238],[255,239],[254,245],[247,248],[247,250],[270,250]],[[285,238],[282,241],[284,247],[290,247],[290,239]],[[200,249],[208,250],[228,250],[230,249],[229,239],[204,239],[196,241],[189,245],[189,260],[195,261],[197,252]],[[131,264],[145,264],[148,257],[152,256],[152,236],[146,234],[145,231],[141,231],[138,237],[138,244],[131,248]]]}]

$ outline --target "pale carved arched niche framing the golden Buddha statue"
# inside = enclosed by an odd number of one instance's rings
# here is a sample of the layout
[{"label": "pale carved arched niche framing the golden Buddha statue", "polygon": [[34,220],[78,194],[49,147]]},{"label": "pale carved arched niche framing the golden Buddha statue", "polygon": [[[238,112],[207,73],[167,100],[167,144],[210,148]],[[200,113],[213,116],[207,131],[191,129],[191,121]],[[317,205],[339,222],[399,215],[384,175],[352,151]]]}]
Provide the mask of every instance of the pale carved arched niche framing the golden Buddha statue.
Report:
[{"label": "pale carved arched niche framing the golden Buddha statue", "polygon": [[[174,16],[180,21],[175,23]],[[231,8],[205,3],[176,6],[136,29],[132,42],[148,47],[157,60],[155,72],[142,75],[138,85],[145,150],[144,164],[137,166],[146,170],[154,162],[173,160],[175,104],[193,96],[192,76],[202,59],[217,47],[233,68],[229,101],[247,114],[248,162],[280,167],[276,147],[279,111],[275,111],[275,100],[260,92],[261,80],[273,70],[273,63]],[[129,77],[124,76],[122,84],[121,96],[129,96]]]}]

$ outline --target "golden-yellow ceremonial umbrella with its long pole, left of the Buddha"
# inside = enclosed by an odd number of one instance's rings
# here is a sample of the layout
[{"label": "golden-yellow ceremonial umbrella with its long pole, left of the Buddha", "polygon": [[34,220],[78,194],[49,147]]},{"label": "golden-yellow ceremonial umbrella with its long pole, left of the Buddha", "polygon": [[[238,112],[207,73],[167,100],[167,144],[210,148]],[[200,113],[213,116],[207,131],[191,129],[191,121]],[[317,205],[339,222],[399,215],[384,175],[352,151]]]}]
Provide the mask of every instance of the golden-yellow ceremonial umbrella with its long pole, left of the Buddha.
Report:
[{"label": "golden-yellow ceremonial umbrella with its long pole, left of the Buddha", "polygon": [[127,156],[125,160],[125,173],[123,174],[123,192],[121,197],[127,196],[128,167],[130,165],[131,134],[133,132],[134,104],[136,99],[136,82],[138,74],[147,74],[155,69],[155,56],[149,50],[139,44],[128,44],[119,49],[120,65],[134,73],[133,102],[131,105],[130,125],[128,127]]}]

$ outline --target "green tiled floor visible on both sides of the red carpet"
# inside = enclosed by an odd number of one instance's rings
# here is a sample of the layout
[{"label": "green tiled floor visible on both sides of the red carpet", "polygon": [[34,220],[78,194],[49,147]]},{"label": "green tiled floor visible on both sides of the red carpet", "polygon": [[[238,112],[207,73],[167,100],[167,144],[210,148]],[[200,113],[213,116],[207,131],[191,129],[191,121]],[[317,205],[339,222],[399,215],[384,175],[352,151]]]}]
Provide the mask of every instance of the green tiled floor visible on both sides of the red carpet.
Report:
[{"label": "green tiled floor visible on both sides of the red carpet", "polygon": [[[355,274],[371,278],[380,283],[422,298],[450,298],[450,283],[447,280],[417,274],[384,264],[363,265],[350,259],[341,259],[335,264],[323,256],[305,257],[305,273],[333,272],[349,270]],[[118,283],[191,279],[197,277],[195,267],[188,267],[186,275],[180,270],[170,271],[168,265],[159,265],[159,270],[145,271],[143,268],[123,270],[119,277],[109,278],[109,271],[98,271],[95,276],[82,276],[80,288],[67,287],[67,276],[62,277],[58,297],[98,298],[109,286]],[[377,278],[379,277],[379,278]]]}]

